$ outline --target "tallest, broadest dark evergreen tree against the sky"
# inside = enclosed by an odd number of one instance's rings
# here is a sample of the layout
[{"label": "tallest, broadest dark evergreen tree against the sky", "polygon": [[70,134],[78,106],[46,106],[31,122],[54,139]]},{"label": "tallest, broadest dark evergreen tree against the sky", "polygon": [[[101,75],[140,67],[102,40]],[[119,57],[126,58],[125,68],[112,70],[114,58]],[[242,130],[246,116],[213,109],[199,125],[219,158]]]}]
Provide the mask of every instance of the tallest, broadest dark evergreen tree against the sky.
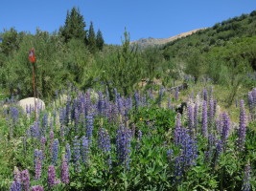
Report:
[{"label": "tallest, broadest dark evergreen tree against the sky", "polygon": [[59,31],[66,42],[71,38],[78,38],[84,41],[86,36],[86,31],[84,31],[85,27],[86,24],[83,21],[80,10],[74,7],[71,12],[67,11],[65,25],[61,27]]}]

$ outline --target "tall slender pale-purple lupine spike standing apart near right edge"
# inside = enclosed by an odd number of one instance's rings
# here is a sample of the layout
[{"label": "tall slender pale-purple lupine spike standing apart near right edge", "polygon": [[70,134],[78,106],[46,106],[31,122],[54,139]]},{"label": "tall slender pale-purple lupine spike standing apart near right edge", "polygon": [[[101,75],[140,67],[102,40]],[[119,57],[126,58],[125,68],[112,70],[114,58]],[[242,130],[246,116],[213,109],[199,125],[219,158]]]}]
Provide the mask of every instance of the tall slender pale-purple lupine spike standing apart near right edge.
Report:
[{"label": "tall slender pale-purple lupine spike standing apart near right edge", "polygon": [[238,148],[240,151],[244,150],[246,133],[246,114],[244,110],[244,100],[240,101],[240,120],[239,120],[239,130],[238,130]]}]

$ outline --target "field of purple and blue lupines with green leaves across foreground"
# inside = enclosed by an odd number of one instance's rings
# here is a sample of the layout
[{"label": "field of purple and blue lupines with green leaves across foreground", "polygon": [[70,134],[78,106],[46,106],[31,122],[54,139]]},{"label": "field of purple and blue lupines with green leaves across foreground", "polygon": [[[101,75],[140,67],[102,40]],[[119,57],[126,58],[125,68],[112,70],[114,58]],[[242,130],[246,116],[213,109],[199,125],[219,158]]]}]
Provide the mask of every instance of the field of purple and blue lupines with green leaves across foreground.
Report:
[{"label": "field of purple and blue lupines with green leaves across foreground", "polygon": [[1,190],[256,189],[256,89],[239,123],[212,88],[187,97],[182,115],[177,91],[109,91],[69,88],[36,119],[10,100],[1,143],[15,145],[13,173],[1,172]]}]

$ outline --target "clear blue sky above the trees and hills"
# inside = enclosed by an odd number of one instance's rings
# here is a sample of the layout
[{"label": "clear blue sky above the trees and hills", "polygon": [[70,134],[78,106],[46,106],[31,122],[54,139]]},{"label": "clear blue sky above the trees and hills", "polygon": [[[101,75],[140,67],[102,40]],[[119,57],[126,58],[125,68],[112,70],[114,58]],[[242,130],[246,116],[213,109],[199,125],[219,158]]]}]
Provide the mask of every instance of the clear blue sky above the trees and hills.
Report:
[{"label": "clear blue sky above the trees and hills", "polygon": [[73,7],[85,30],[92,21],[106,44],[121,44],[125,28],[130,41],[168,38],[255,11],[256,0],[0,0],[0,32],[58,32]]}]

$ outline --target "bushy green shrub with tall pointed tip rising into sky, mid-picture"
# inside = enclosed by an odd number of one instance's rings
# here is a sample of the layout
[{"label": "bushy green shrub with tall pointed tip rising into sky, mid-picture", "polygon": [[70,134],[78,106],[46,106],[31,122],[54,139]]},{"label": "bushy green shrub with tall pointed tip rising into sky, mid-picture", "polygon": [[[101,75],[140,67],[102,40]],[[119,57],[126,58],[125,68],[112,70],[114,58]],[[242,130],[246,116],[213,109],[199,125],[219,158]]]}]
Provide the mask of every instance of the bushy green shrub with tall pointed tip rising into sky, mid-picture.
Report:
[{"label": "bushy green shrub with tall pointed tip rising into sky, mid-picture", "polygon": [[137,47],[129,46],[129,34],[124,33],[125,39],[118,52],[109,53],[102,62],[102,80],[108,87],[118,88],[125,96],[142,78],[143,66]]}]

